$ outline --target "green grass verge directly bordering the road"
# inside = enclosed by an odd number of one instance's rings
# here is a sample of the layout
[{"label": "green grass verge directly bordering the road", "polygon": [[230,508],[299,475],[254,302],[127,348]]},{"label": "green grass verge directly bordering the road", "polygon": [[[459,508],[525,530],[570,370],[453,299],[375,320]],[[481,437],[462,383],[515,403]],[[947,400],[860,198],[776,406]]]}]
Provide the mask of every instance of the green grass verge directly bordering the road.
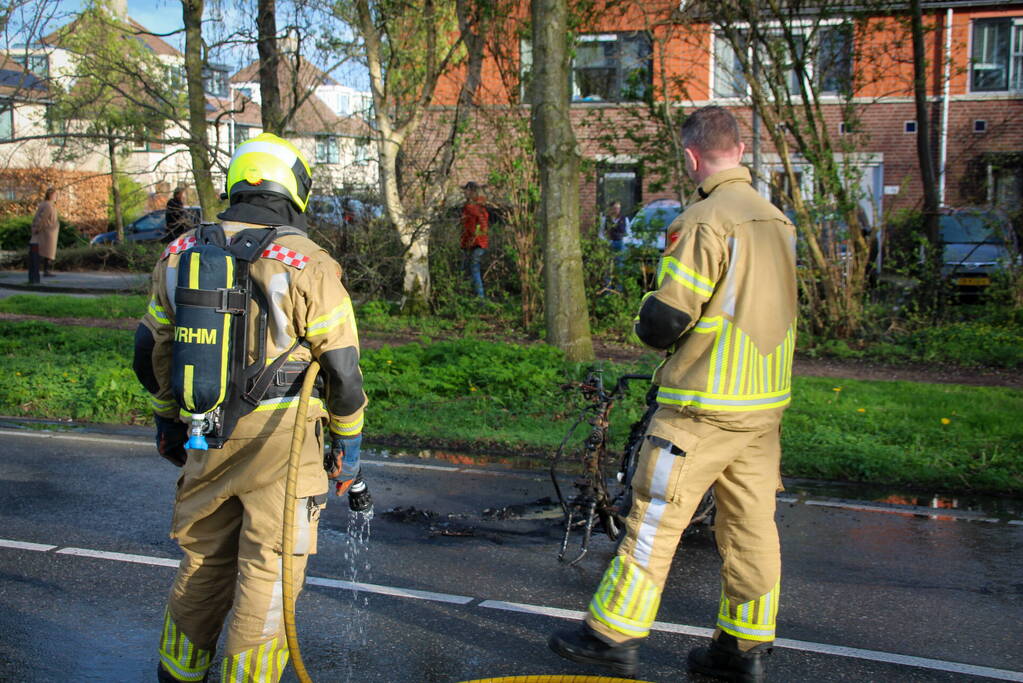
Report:
[{"label": "green grass verge directly bordering the road", "polygon": [[[132,333],[85,330],[0,322],[0,413],[147,422],[146,395],[131,370]],[[654,363],[605,367],[615,377]],[[473,338],[367,351],[362,365],[368,440],[520,453],[558,446],[579,405],[577,392],[560,384],[585,371],[543,345]],[[1023,392],[796,377],[794,397],[783,431],[788,475],[1023,493]],[[641,400],[637,388],[613,412],[616,443]]]}]

